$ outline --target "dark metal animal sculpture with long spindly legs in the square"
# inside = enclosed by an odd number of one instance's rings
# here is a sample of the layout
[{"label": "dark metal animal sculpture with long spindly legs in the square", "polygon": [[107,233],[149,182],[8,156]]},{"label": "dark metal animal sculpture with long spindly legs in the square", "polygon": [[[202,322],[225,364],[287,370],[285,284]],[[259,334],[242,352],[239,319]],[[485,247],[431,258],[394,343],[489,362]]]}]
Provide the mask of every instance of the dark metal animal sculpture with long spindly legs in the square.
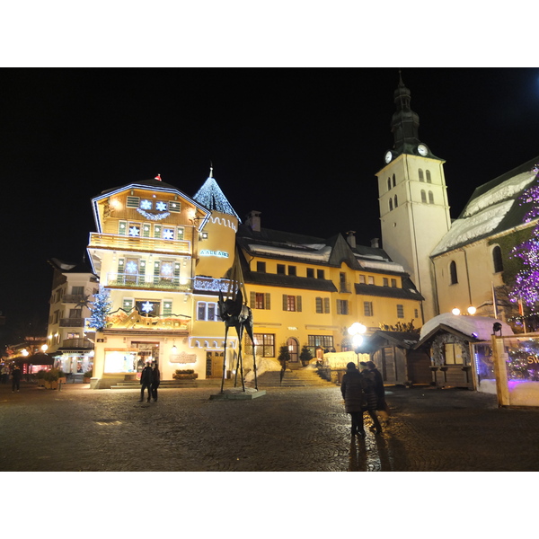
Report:
[{"label": "dark metal animal sculpture with long spindly legs in the square", "polygon": [[247,305],[243,305],[243,294],[241,290],[238,290],[235,299],[224,299],[223,294],[219,292],[219,311],[221,319],[225,323],[225,354],[223,358],[223,379],[221,381],[221,393],[223,393],[223,387],[225,384],[225,368],[226,368],[226,338],[228,335],[228,328],[235,328],[238,334],[239,349],[238,349],[238,361],[236,365],[235,382],[237,383],[238,370],[242,378],[242,388],[245,391],[245,384],[243,382],[243,356],[242,356],[242,340],[243,330],[247,331],[247,334],[252,341],[252,364],[254,369],[254,387],[258,391],[258,381],[256,376],[256,354],[254,349],[254,338],[252,336],[252,310]]}]

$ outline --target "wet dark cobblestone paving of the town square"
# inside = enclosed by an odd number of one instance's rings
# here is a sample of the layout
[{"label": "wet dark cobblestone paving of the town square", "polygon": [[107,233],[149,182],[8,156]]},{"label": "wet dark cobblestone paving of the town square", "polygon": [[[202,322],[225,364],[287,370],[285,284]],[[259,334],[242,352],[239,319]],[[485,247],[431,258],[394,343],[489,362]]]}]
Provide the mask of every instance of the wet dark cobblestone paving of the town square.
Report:
[{"label": "wet dark cobblestone paving of the town square", "polygon": [[362,440],[337,386],[267,388],[252,401],[163,389],[150,403],[87,387],[0,385],[0,470],[539,471],[539,410],[499,409],[494,395],[391,388],[391,425]]}]

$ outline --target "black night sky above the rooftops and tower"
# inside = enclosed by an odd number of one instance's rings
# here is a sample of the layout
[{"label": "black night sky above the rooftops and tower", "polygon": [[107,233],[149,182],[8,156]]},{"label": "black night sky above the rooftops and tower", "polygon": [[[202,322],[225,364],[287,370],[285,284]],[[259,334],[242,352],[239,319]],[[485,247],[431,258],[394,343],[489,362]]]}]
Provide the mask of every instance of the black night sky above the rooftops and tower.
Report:
[{"label": "black night sky above the rooftops and tower", "polygon": [[[56,257],[82,261],[90,201],[157,173],[192,197],[214,177],[242,218],[379,237],[398,67],[22,68],[0,88],[0,344],[45,335]],[[402,68],[420,139],[446,160],[451,214],[539,155],[539,69]]]}]

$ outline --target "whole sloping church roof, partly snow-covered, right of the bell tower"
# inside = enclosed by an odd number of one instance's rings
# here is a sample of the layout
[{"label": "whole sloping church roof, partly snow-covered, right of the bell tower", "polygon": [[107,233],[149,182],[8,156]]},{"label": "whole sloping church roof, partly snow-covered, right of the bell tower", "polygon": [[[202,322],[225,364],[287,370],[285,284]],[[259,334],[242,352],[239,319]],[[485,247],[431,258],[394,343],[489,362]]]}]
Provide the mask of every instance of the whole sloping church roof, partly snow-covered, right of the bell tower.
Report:
[{"label": "whole sloping church roof, partly snow-covered, right of the bell tower", "polygon": [[468,243],[523,225],[530,205],[522,204],[520,198],[535,181],[538,163],[539,156],[474,190],[463,212],[455,219],[431,256],[453,251]]}]

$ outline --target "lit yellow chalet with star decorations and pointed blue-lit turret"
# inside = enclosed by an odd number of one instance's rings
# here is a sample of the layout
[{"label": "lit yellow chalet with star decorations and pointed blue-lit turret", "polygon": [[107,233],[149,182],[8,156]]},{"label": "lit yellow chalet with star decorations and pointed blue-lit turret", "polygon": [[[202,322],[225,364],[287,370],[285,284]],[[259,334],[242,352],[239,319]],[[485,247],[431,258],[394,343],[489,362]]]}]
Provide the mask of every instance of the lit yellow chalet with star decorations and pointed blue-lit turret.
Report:
[{"label": "lit yellow chalet with star decorations and pointed blue-lit turret", "polygon": [[207,351],[222,350],[216,294],[227,287],[239,220],[223,199],[210,175],[194,199],[157,176],[92,200],[97,232],[87,251],[110,293],[106,327],[95,335],[93,388],[136,379],[148,360],[163,380],[176,369],[206,376]]}]

